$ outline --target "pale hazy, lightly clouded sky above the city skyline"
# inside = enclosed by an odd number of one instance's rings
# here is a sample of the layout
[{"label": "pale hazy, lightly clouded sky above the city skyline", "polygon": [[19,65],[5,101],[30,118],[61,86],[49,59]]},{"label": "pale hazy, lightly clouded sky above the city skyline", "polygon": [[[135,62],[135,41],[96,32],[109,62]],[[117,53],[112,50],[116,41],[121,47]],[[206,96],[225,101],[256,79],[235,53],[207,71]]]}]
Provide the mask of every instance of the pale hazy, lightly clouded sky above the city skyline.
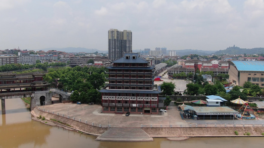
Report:
[{"label": "pale hazy, lightly clouded sky above the city skyline", "polygon": [[264,47],[264,0],[0,0],[0,50],[107,50],[109,29],[133,50]]}]

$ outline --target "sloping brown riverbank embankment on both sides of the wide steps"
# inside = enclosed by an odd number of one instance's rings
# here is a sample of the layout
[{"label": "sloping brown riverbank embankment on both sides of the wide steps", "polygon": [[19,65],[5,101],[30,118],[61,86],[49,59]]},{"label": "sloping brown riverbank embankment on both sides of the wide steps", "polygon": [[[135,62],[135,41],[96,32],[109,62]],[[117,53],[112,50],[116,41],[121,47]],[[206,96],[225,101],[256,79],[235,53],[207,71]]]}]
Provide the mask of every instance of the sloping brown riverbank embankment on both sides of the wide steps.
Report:
[{"label": "sloping brown riverbank embankment on both sides of the wide steps", "polygon": [[[81,123],[75,120],[71,120],[65,117],[58,116],[56,114],[39,111],[36,108],[31,111],[32,115],[35,117],[45,116],[46,119],[49,119],[49,122],[52,122],[50,119],[55,119],[70,125],[70,128],[76,131],[80,131],[86,134],[101,136],[107,131],[107,128],[100,128],[85,123]],[[43,122],[45,123],[45,122]],[[56,123],[56,126],[63,126]],[[245,133],[250,133],[250,136],[263,136],[264,127],[206,127],[206,128],[142,128],[150,137],[153,138],[167,138],[167,137],[249,137],[244,135]],[[235,131],[238,132],[238,135],[235,135]],[[173,139],[170,139],[173,140]]]}]

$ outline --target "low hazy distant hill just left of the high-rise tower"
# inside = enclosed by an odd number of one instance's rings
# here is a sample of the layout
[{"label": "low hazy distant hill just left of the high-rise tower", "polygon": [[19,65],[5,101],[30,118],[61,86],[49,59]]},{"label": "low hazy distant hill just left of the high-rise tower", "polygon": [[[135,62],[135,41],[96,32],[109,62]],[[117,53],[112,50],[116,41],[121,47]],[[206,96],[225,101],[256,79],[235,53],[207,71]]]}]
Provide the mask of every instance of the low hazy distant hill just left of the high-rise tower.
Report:
[{"label": "low hazy distant hill just left of the high-rise tower", "polygon": [[107,53],[108,51],[102,51],[98,49],[88,49],[88,48],[82,48],[82,47],[67,47],[67,48],[44,48],[44,49],[39,49],[43,51],[48,51],[48,50],[57,50],[57,51],[64,51],[64,52],[70,52],[70,53],[78,53],[78,52],[86,52],[86,53],[93,53],[98,51],[98,53]]}]

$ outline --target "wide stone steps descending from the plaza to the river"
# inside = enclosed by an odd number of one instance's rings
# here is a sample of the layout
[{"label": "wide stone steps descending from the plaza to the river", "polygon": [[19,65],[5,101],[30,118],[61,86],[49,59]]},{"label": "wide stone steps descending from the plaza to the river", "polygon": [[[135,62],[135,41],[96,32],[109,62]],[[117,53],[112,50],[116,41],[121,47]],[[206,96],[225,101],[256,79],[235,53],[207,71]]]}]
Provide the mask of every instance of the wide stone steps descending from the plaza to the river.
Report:
[{"label": "wide stone steps descending from the plaza to the river", "polygon": [[122,141],[122,142],[144,142],[153,141],[141,128],[108,128],[108,130],[97,137],[99,141]]}]

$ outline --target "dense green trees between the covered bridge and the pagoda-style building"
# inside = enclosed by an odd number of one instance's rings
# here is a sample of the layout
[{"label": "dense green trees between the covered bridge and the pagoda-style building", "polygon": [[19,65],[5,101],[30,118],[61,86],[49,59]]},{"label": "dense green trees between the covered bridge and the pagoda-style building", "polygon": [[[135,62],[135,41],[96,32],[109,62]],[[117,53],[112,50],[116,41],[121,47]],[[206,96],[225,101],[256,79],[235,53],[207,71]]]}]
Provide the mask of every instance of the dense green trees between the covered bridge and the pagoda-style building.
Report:
[{"label": "dense green trees between the covered bridge and the pagoda-style building", "polygon": [[[73,92],[70,99],[73,102],[101,103],[102,95],[98,91],[105,86],[108,69],[101,67],[76,66],[59,70],[50,70],[44,80],[51,83],[50,87]],[[98,90],[97,90],[98,89]]]}]

